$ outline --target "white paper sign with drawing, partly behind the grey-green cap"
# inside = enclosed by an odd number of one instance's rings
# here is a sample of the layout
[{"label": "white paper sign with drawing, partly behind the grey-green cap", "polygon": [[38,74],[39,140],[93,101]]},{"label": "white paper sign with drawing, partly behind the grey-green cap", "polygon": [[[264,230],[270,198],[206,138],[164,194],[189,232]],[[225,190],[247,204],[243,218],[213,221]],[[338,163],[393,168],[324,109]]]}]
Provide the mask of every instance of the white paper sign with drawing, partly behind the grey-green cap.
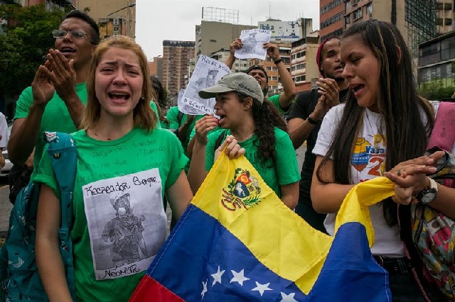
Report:
[{"label": "white paper sign with drawing, partly behind the grey-green cap", "polygon": [[[230,74],[228,66],[220,61],[201,55],[182,99],[178,100],[178,109],[183,113],[193,115],[215,114],[215,109],[213,109],[215,98],[201,99],[199,91],[200,89],[214,86],[226,74]],[[190,107],[191,109],[188,109]]]}]

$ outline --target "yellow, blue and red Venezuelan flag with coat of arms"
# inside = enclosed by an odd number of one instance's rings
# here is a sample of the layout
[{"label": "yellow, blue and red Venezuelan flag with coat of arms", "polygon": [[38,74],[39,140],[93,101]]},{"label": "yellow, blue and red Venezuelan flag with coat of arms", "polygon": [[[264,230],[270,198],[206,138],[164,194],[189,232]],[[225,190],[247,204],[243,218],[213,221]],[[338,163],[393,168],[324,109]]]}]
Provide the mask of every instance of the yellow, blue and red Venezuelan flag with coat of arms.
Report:
[{"label": "yellow, blue and red Venezuelan flag with coat of arms", "polygon": [[223,152],[130,301],[391,301],[367,207],[392,194],[384,178],[356,186],[330,237]]}]

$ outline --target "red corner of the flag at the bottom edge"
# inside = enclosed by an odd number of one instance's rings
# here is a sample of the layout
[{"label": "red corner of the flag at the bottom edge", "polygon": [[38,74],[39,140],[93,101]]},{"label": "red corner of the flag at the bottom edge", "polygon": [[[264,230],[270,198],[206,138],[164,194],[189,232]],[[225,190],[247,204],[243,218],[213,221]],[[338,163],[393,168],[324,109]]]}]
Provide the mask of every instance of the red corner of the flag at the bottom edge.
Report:
[{"label": "red corner of the flag at the bottom edge", "polygon": [[184,300],[159,284],[151,276],[145,275],[129,298],[129,302],[141,301],[182,302]]}]

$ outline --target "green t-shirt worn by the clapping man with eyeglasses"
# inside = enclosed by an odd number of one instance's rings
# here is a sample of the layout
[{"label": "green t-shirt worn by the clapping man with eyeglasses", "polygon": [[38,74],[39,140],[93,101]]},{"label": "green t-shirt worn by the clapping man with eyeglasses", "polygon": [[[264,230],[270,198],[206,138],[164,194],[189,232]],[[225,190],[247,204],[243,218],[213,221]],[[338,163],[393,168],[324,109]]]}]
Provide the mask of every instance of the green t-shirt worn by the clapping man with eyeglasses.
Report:
[{"label": "green t-shirt worn by the clapping man with eyeglasses", "polygon": [[[76,84],[76,94],[79,96],[82,104],[87,104],[87,88],[85,83]],[[30,107],[32,104],[33,91],[31,86],[29,86],[24,89],[21,96],[19,96],[16,104],[16,114],[14,115],[14,119],[26,118],[28,113],[30,113]],[[38,142],[36,142],[35,155],[33,157],[35,169],[33,169],[31,179],[34,179],[36,170],[38,169],[38,164],[41,160],[41,156],[43,155],[43,148],[45,145],[45,140],[43,135],[41,135],[43,131],[58,131],[63,133],[73,133],[77,131],[65,102],[60,99],[57,92],[54,93],[52,99],[45,106],[43,117],[41,118],[41,125],[39,129],[40,135],[38,135]]]}]

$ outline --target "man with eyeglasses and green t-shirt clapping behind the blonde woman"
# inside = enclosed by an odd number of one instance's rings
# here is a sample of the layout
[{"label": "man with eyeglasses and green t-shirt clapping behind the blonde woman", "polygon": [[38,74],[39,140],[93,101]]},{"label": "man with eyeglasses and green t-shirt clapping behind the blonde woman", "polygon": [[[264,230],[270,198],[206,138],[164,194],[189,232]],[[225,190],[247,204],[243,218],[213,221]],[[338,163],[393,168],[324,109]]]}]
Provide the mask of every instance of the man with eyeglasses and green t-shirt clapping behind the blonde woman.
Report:
[{"label": "man with eyeglasses and green t-shirt clapping behind the blonde woman", "polygon": [[32,180],[43,154],[43,131],[72,133],[79,128],[90,59],[100,40],[97,23],[82,11],[68,13],[52,35],[55,49],[49,50],[31,86],[19,96],[8,143],[9,158],[18,165],[36,147]]}]

